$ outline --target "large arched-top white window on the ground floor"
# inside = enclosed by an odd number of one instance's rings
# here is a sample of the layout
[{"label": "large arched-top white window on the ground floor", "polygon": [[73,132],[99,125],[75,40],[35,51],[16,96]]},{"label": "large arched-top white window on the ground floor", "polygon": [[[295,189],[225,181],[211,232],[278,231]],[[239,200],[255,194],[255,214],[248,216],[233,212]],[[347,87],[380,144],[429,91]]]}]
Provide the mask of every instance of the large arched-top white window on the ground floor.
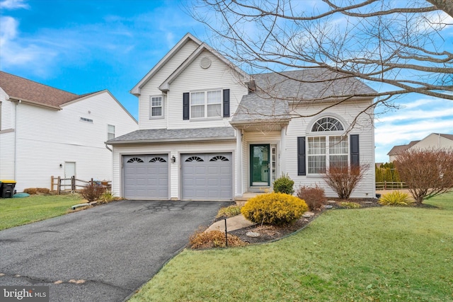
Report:
[{"label": "large arched-top white window on the ground floor", "polygon": [[326,173],[327,167],[348,166],[348,136],[338,135],[343,129],[343,124],[334,117],[322,117],[314,123],[311,132],[316,133],[307,137],[309,174]]}]

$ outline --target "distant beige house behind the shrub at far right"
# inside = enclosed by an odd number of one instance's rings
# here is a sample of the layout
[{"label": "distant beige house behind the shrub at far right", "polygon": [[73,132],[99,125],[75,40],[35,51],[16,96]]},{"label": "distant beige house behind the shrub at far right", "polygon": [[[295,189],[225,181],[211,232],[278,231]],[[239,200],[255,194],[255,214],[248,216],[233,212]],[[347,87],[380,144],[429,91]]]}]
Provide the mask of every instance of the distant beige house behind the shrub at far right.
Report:
[{"label": "distant beige house behind the shrub at far right", "polygon": [[421,141],[411,141],[406,145],[394,146],[387,153],[389,161],[396,161],[398,154],[414,149],[453,149],[453,134],[432,133]]}]

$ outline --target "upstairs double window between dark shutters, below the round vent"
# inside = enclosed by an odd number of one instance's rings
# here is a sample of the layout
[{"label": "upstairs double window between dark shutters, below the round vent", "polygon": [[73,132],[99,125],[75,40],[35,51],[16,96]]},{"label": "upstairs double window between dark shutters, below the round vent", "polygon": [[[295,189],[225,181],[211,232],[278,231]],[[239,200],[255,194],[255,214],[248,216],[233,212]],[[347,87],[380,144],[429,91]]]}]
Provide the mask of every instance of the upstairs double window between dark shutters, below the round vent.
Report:
[{"label": "upstairs double window between dark shutters, below the round vent", "polygon": [[222,91],[190,93],[190,118],[222,117]]}]

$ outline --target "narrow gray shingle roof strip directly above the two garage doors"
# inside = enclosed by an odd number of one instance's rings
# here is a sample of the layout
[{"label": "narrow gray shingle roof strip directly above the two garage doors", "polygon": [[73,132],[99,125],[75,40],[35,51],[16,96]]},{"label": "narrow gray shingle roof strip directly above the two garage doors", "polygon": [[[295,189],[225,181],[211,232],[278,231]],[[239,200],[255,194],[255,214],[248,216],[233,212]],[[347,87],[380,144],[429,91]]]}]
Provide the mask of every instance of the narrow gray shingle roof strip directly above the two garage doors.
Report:
[{"label": "narrow gray shingle roof strip directly above the two garage doors", "polygon": [[197,129],[142,129],[110,139],[107,144],[142,144],[178,141],[235,140],[231,127]]}]

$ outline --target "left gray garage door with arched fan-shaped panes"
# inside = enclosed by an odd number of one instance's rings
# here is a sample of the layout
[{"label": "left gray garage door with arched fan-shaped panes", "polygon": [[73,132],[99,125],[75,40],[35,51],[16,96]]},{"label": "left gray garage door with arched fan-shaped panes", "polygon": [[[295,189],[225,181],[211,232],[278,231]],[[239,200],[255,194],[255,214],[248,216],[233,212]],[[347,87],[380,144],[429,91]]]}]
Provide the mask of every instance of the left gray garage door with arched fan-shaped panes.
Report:
[{"label": "left gray garage door with arched fan-shaped panes", "polygon": [[124,197],[168,199],[168,155],[123,156]]}]

